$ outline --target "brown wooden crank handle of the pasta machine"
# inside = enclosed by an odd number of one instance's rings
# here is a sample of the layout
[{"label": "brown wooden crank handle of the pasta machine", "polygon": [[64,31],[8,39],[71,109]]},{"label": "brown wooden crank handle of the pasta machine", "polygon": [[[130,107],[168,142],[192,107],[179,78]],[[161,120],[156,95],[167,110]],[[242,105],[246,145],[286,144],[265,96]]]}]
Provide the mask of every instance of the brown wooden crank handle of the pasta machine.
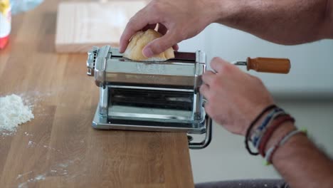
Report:
[{"label": "brown wooden crank handle of the pasta machine", "polygon": [[290,71],[290,60],[287,58],[248,58],[247,68],[261,73],[284,73]]}]

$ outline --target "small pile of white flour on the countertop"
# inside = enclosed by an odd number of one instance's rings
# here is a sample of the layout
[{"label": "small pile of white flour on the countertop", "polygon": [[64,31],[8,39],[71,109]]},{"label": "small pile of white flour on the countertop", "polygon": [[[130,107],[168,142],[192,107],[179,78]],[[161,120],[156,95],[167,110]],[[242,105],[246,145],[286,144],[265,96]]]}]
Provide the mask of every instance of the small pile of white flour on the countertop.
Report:
[{"label": "small pile of white flour on the countertop", "polygon": [[14,132],[18,125],[32,120],[31,108],[23,104],[18,95],[7,95],[0,98],[0,132]]}]

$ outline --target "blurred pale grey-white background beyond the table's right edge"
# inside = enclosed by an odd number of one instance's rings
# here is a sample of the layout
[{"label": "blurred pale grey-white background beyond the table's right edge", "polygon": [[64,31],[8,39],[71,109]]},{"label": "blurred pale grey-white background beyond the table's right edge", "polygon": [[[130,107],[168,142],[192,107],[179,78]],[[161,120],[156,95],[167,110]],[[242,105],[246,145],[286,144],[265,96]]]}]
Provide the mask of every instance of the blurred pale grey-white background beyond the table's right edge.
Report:
[{"label": "blurred pale grey-white background beyond the table's right edge", "polygon": [[[333,40],[282,46],[213,23],[179,46],[180,51],[205,51],[208,62],[215,56],[227,61],[290,58],[288,75],[249,73],[261,78],[277,105],[291,113],[297,126],[306,127],[317,145],[333,156]],[[216,123],[211,145],[190,150],[190,155],[194,182],[280,178],[273,167],[263,165],[261,157],[248,155],[243,137],[226,132]]]}]

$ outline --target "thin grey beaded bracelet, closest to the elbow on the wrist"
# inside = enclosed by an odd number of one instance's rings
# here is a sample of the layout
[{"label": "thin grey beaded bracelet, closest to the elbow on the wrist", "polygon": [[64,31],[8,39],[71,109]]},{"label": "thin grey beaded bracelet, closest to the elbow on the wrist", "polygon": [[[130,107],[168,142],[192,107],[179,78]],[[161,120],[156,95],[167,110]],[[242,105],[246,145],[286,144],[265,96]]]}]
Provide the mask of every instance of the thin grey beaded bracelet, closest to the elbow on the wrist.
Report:
[{"label": "thin grey beaded bracelet, closest to the elbow on the wrist", "polygon": [[268,149],[267,154],[265,156],[265,165],[272,164],[272,158],[273,158],[273,155],[274,155],[275,151],[277,150],[277,148],[284,145],[288,140],[290,140],[291,137],[293,137],[294,135],[297,135],[298,133],[304,133],[305,135],[307,135],[307,130],[306,129],[305,130],[292,130],[291,132],[287,133],[287,135],[285,135],[284,137],[281,137],[280,141],[277,142],[276,145],[274,145],[273,147],[270,147],[270,149]]}]

